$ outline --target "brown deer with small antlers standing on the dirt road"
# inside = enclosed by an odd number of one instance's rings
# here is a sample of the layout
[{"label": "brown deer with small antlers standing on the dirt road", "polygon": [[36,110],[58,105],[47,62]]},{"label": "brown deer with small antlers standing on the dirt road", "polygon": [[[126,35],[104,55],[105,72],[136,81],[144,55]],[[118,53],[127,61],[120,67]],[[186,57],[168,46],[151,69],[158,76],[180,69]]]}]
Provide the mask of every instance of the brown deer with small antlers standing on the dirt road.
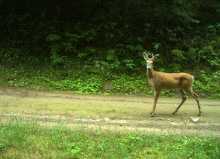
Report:
[{"label": "brown deer with small antlers standing on the dirt road", "polygon": [[184,91],[186,91],[196,100],[198,104],[199,116],[200,116],[202,112],[198,100],[198,95],[192,90],[194,77],[188,73],[156,72],[153,69],[153,61],[156,56],[159,56],[159,54],[155,56],[152,54],[152,58],[149,58],[148,55],[145,52],[143,52],[143,56],[147,64],[148,82],[149,85],[154,89],[154,104],[153,104],[153,111],[151,113],[151,117],[153,117],[155,114],[157,100],[160,95],[160,91],[163,89],[165,90],[179,89],[179,92],[182,96],[182,102],[176,108],[173,114],[175,114],[178,111],[178,109],[183,105],[183,103],[186,101],[187,97],[184,93]]}]

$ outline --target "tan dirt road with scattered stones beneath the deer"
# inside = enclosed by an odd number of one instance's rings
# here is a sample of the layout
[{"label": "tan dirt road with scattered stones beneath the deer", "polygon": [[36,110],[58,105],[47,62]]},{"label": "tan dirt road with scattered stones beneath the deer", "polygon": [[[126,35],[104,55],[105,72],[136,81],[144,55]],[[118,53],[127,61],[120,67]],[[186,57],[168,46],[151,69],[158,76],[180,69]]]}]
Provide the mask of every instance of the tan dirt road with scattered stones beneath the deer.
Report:
[{"label": "tan dirt road with scattered stones beneath the deer", "polygon": [[16,115],[37,117],[42,125],[59,121],[68,125],[83,123],[86,127],[101,125],[106,130],[117,127],[121,131],[220,138],[220,100],[200,99],[200,117],[197,116],[197,103],[192,98],[173,115],[180,102],[181,98],[161,97],[155,117],[150,117],[152,96],[79,95],[0,87],[0,119],[4,123],[9,116]]}]

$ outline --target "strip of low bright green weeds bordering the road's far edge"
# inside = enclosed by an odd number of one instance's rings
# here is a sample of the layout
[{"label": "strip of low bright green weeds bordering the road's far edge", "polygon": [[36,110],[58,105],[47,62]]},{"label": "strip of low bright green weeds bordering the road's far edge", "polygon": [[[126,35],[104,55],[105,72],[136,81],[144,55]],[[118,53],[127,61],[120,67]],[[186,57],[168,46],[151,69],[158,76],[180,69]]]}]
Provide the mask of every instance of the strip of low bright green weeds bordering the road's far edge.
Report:
[{"label": "strip of low bright green weeds bordering the road's far edge", "polygon": [[[5,70],[2,66],[1,70]],[[37,90],[73,91],[80,94],[151,94],[145,72],[100,71],[92,66],[81,69],[61,70],[14,68],[0,72],[0,85],[34,88]],[[220,98],[219,71],[207,73],[204,70],[194,74],[193,89],[202,98]],[[110,86],[110,88],[106,88]],[[173,96],[173,91],[162,91],[161,95]]]}]

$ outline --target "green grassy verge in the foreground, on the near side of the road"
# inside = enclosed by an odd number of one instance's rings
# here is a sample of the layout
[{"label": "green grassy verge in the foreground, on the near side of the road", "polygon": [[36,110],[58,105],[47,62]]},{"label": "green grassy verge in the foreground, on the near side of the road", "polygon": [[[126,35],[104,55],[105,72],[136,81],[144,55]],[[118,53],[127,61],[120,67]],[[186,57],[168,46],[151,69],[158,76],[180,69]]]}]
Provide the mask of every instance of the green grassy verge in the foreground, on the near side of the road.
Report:
[{"label": "green grassy verge in the foreground, on the near side of the road", "polygon": [[[126,129],[126,128],[125,128]],[[42,126],[38,118],[0,123],[0,158],[220,158],[210,137],[91,129],[83,124]]]}]

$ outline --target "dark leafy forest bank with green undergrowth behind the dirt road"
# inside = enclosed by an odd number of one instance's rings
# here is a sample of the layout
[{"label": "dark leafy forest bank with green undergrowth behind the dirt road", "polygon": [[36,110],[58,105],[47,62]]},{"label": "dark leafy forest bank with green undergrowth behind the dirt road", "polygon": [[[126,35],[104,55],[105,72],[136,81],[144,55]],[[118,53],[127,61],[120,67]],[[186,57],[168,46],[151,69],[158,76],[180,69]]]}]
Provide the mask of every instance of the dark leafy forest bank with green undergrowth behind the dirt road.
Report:
[{"label": "dark leafy forest bank with green undergrowth behind the dirt road", "polygon": [[[0,84],[77,93],[152,93],[154,69],[194,75],[220,97],[218,0],[0,0]],[[171,95],[170,91],[163,94]]]}]

